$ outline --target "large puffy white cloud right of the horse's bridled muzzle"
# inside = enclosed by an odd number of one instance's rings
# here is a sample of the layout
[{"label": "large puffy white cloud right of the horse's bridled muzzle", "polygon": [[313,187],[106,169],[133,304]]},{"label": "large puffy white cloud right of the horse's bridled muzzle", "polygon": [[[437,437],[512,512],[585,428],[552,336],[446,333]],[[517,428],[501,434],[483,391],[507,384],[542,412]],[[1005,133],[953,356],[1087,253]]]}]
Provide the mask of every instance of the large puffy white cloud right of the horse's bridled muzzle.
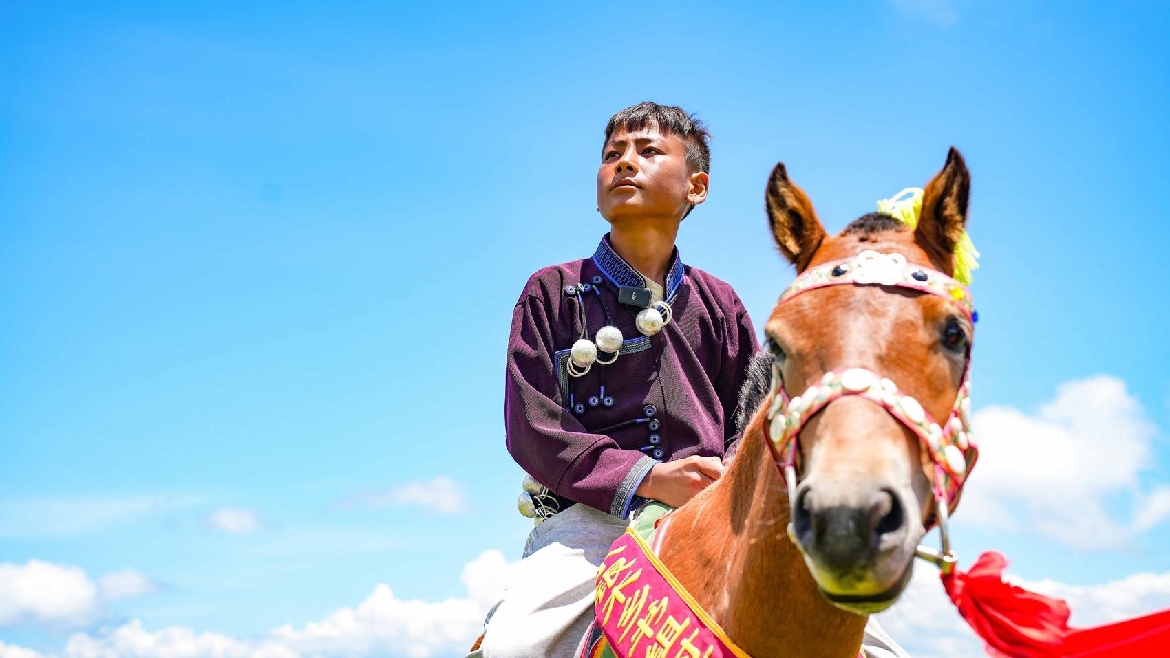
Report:
[{"label": "large puffy white cloud right of the horse's bridled muzzle", "polygon": [[[1035,529],[1081,548],[1130,539],[1130,524],[1110,514],[1106,500],[1128,497],[1136,504],[1154,427],[1123,381],[1099,375],[1067,382],[1035,415],[989,407],[973,425],[979,462],[958,512],[964,524]],[[1162,500],[1151,498],[1134,525],[1149,527],[1170,515]]]}]

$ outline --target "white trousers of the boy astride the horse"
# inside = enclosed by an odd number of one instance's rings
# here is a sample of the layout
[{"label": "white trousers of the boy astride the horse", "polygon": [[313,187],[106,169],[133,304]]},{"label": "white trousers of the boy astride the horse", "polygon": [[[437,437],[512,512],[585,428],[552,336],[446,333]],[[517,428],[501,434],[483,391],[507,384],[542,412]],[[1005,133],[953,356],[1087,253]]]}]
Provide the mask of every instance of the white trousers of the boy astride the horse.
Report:
[{"label": "white trousers of the boy astride the horse", "polygon": [[[597,570],[629,522],[578,503],[532,528],[524,559],[484,619],[483,643],[468,658],[580,656]],[[909,658],[872,616],[862,647],[870,658]]]}]

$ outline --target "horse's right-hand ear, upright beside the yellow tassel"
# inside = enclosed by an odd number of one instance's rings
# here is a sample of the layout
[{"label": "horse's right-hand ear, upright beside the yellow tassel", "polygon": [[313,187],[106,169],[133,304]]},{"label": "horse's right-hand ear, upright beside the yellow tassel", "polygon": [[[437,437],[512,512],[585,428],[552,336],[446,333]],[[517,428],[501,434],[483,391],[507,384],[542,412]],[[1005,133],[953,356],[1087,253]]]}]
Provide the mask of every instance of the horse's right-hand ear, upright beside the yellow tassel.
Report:
[{"label": "horse's right-hand ear, upright beside the yellow tassel", "polygon": [[922,213],[914,231],[917,243],[927,250],[940,270],[955,273],[955,245],[966,227],[966,201],[971,174],[958,150],[951,146],[947,164],[927,183],[922,194]]}]

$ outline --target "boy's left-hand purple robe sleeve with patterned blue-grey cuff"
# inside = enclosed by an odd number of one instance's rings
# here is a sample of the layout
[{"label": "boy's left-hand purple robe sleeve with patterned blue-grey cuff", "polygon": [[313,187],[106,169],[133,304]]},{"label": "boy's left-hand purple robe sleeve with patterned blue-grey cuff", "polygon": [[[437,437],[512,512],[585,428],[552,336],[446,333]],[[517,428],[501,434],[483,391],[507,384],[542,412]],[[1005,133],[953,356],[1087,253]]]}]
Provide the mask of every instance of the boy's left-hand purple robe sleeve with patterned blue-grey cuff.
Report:
[{"label": "boy's left-hand purple robe sleeve with patterned blue-grey cuff", "polygon": [[555,493],[625,519],[634,490],[658,460],[590,432],[565,408],[556,349],[549,305],[538,295],[525,295],[512,312],[508,341],[508,451]]}]

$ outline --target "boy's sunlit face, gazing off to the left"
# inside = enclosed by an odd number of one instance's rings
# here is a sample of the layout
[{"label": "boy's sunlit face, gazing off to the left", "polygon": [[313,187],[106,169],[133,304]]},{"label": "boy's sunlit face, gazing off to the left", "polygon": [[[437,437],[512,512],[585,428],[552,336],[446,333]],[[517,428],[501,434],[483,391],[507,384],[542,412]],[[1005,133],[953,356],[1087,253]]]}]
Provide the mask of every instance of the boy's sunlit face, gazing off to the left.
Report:
[{"label": "boy's sunlit face, gazing off to the left", "polygon": [[636,217],[681,220],[707,199],[707,173],[690,172],[687,145],[655,126],[618,127],[601,150],[597,209],[610,222]]}]

